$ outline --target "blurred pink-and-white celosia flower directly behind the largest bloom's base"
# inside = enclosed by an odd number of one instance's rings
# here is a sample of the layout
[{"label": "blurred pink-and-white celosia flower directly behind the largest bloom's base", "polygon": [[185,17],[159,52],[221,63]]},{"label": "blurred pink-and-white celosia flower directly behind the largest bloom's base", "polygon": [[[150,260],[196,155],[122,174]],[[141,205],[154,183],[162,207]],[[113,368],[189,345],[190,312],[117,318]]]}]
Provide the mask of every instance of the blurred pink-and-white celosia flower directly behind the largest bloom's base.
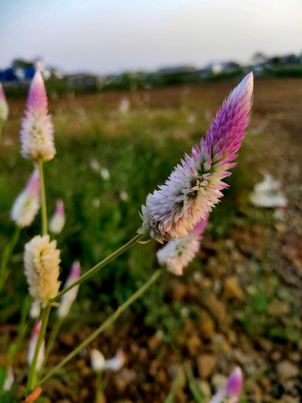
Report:
[{"label": "blurred pink-and-white celosia flower directly behind the largest bloom's base", "polygon": [[193,260],[199,251],[201,234],[207,225],[208,217],[209,213],[206,213],[206,218],[202,218],[186,237],[170,241],[159,249],[156,254],[159,264],[166,265],[169,272],[181,276],[183,268]]}]

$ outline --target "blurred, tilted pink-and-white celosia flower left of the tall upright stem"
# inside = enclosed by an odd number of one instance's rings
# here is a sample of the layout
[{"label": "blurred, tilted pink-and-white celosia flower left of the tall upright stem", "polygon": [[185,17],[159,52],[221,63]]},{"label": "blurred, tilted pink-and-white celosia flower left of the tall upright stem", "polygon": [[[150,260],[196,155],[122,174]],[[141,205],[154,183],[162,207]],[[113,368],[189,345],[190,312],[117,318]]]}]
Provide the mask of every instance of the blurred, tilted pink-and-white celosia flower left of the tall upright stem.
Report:
[{"label": "blurred, tilted pink-and-white celosia flower left of the tall upright stem", "polygon": [[21,228],[29,226],[37,211],[40,201],[39,171],[35,169],[22,193],[12,206],[11,218]]}]

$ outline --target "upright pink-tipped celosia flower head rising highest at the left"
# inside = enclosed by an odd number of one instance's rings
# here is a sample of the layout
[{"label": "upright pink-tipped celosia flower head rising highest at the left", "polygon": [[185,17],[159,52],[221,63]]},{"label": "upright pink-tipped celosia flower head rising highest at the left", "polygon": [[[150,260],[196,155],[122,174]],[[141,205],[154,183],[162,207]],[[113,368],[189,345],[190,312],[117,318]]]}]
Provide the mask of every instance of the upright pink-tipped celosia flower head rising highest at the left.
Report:
[{"label": "upright pink-tipped celosia flower head rising highest at the left", "polygon": [[47,114],[46,91],[39,71],[31,82],[26,106],[21,129],[21,154],[34,161],[50,161],[56,154],[54,128]]}]

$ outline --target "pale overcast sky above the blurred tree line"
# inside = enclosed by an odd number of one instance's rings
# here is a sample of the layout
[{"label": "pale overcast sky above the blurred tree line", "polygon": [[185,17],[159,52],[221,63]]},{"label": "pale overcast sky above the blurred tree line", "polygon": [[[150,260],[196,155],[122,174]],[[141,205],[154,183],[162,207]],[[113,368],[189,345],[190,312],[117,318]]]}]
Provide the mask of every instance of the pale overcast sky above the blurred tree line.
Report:
[{"label": "pale overcast sky above the blurred tree line", "polygon": [[302,0],[0,0],[0,69],[116,73],[302,53]]}]

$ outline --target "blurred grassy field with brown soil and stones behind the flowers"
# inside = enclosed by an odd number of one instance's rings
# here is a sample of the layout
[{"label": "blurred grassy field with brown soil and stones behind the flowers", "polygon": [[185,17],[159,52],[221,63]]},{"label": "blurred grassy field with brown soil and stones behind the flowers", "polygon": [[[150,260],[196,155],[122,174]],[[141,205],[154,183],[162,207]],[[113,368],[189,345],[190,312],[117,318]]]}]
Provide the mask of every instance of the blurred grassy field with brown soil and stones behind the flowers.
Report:
[{"label": "blurred grassy field with brown soil and stones behind the flowers", "polygon": [[[59,197],[66,210],[66,225],[57,238],[62,249],[61,280],[67,277],[74,260],[80,260],[84,272],[135,235],[141,226],[138,210],[147,194],[165,181],[184,152],[189,153],[206,134],[234,85],[209,83],[75,98],[69,94],[59,99],[52,94],[49,109],[57,155],[45,164],[44,172],[48,216]],[[118,109],[124,96],[130,100],[126,114]],[[205,353],[217,357],[217,373],[228,374],[235,364],[244,367],[246,377],[251,378],[244,389],[248,401],[254,401],[255,393],[267,399],[257,401],[279,401],[275,399],[287,399],[286,395],[296,399],[300,393],[296,386],[301,382],[300,375],[293,377],[296,383],[287,391],[276,376],[276,368],[290,351],[298,353],[302,348],[302,296],[297,288],[302,276],[301,99],[298,79],[255,82],[251,122],[238,166],[226,180],[230,189],[224,191],[221,203],[210,215],[198,258],[183,278],[165,274],[112,333],[93,344],[109,355],[122,345],[128,357],[127,368],[136,374],[131,384],[112,376],[105,391],[108,401],[120,401],[122,397],[132,402],[164,401],[173,378],[171,366],[188,360],[194,376],[204,378],[198,357]],[[10,208],[32,170],[31,163],[20,155],[20,118],[25,100],[13,100],[9,106],[10,117],[3,127],[0,148],[1,251],[14,229]],[[248,204],[248,193],[262,180],[264,172],[272,173],[284,186],[289,199],[285,222],[277,222],[271,210]],[[21,232],[9,264],[10,276],[0,295],[2,355],[14,338],[14,325],[27,294],[23,247],[40,232],[39,218]],[[158,266],[158,247],[155,241],[136,245],[81,285],[50,364],[66,355],[72,345],[85,338],[149,278]],[[240,298],[225,296],[225,281],[230,276],[236,278]],[[278,303],[283,305],[273,312]],[[53,315],[50,325],[54,320]],[[160,345],[155,340],[158,334]],[[237,339],[232,339],[232,334]],[[215,350],[219,337],[227,347],[220,345]],[[271,343],[271,347],[259,350],[259,340]],[[194,347],[188,347],[189,341]],[[244,343],[247,351],[242,347]],[[248,372],[244,360],[240,363],[231,355],[238,349],[252,357],[249,362],[256,374],[262,371],[258,378]],[[282,349],[282,355],[273,361],[270,354],[278,349]],[[26,346],[16,358],[20,384],[25,382],[25,354]],[[142,358],[136,359],[140,354]],[[292,364],[298,366],[297,361]],[[67,398],[71,402],[92,402],[89,399],[93,399],[95,381],[88,369],[88,355],[74,360],[67,372],[46,386],[46,394],[53,401]],[[212,375],[203,381],[213,388]],[[267,390],[261,384],[263,376],[271,387]],[[280,384],[282,390],[275,386]],[[21,396],[22,391],[21,386],[17,395]],[[181,388],[177,399],[184,403],[192,400],[188,386]]]}]

